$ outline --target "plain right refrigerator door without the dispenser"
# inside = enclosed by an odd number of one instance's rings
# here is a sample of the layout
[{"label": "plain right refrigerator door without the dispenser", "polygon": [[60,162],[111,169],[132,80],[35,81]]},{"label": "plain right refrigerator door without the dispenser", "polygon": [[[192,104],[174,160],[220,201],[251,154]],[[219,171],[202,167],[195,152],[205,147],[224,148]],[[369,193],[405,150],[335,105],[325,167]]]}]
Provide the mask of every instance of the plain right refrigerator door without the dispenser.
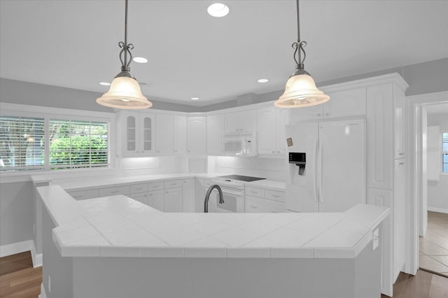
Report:
[{"label": "plain right refrigerator door without the dispenser", "polygon": [[365,120],[319,123],[319,212],[365,203]]}]

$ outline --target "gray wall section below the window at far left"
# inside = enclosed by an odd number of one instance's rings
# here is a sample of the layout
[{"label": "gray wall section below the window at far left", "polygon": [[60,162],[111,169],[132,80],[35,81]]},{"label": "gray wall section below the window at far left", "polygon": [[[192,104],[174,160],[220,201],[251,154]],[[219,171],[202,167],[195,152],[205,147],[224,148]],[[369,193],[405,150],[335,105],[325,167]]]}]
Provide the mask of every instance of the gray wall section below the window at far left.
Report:
[{"label": "gray wall section below the window at far left", "polygon": [[0,183],[0,246],[34,239],[33,225],[33,183]]}]

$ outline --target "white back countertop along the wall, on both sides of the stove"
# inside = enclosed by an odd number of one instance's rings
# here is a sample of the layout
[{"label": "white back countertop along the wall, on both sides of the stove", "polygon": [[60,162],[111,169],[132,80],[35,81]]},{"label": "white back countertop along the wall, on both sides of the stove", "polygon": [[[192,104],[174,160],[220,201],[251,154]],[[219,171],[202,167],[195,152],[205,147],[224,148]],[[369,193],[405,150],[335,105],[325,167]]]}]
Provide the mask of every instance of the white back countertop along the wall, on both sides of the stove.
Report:
[{"label": "white back countertop along the wall, on both sides of the stove", "polygon": [[[144,175],[144,176],[127,176],[127,177],[117,177],[117,176],[104,176],[100,178],[70,178],[70,179],[60,179],[51,180],[48,177],[43,176],[31,176],[34,183],[40,182],[50,182],[52,185],[60,185],[64,190],[85,190],[95,187],[109,187],[109,186],[119,186],[129,183],[151,183],[160,180],[175,180],[175,179],[186,179],[186,178],[203,178],[210,179],[218,176],[228,175],[226,173],[169,173],[169,174],[154,174],[154,175]],[[285,190],[286,183],[282,181],[275,180],[258,180],[253,182],[245,182],[245,185],[250,185],[254,187],[264,187],[272,190]]]}]

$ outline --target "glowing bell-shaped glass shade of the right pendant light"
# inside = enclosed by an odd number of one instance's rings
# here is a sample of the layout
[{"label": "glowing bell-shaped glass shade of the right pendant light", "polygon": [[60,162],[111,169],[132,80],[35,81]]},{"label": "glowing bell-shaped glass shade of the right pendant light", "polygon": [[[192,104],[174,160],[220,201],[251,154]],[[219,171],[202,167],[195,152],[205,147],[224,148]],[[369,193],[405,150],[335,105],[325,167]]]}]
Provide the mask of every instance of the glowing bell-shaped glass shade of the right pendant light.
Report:
[{"label": "glowing bell-shaped glass shade of the right pendant light", "polygon": [[315,106],[328,101],[330,97],[318,90],[313,78],[308,74],[291,76],[286,82],[285,92],[274,102],[279,108],[300,108]]}]

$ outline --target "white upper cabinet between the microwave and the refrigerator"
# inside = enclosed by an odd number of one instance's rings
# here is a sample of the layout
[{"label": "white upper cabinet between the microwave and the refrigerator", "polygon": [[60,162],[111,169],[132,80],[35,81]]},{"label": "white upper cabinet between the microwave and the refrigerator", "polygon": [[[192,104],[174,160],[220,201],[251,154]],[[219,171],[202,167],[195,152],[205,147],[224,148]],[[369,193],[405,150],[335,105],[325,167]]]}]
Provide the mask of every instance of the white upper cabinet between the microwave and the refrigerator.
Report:
[{"label": "white upper cabinet between the microwave and the refrigerator", "polygon": [[286,154],[286,125],[289,109],[269,106],[257,110],[258,154]]}]

